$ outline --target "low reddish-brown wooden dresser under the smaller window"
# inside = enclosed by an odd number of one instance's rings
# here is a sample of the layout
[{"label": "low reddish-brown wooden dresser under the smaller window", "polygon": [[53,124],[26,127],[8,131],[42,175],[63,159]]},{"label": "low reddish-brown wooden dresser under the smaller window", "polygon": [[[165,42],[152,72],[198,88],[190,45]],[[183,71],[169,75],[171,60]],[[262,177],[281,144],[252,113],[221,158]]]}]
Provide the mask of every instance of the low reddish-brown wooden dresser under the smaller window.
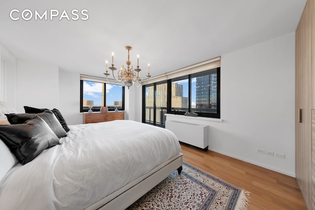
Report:
[{"label": "low reddish-brown wooden dresser under the smaller window", "polygon": [[112,120],[125,120],[125,112],[93,112],[83,113],[83,123],[107,122]]}]

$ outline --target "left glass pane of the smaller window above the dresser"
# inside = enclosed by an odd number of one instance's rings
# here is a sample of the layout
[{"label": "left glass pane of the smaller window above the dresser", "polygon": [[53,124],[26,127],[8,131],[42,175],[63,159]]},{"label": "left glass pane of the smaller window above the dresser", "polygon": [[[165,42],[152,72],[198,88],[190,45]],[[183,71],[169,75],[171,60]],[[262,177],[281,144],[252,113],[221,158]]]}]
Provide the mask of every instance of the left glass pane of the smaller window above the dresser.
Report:
[{"label": "left glass pane of the smaller window above the dresser", "polygon": [[104,104],[104,84],[98,82],[83,81],[83,110],[89,110],[89,106],[94,109]]}]

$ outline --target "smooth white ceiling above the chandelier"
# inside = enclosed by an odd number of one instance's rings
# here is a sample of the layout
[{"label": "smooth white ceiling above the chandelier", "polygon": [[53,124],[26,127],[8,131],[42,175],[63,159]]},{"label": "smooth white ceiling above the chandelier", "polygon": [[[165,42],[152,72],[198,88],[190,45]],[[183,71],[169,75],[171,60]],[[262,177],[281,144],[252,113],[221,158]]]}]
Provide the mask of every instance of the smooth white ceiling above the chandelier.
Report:
[{"label": "smooth white ceiling above the chandelier", "polygon": [[[295,31],[306,0],[1,0],[0,44],[18,59],[103,76],[105,60],[157,76]],[[20,10],[13,13],[12,9]],[[25,9],[48,20],[23,20]],[[58,17],[49,12],[57,9]],[[59,20],[87,9],[88,20]],[[25,13],[27,14],[27,13]],[[44,70],[44,69],[43,69]]]}]

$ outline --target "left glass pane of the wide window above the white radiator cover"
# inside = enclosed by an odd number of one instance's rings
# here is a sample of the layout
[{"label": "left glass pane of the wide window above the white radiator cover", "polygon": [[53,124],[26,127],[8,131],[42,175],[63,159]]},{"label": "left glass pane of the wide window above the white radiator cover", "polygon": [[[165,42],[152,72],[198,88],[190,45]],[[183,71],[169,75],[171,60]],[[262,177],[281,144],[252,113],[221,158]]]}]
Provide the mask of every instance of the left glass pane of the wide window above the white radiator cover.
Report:
[{"label": "left glass pane of the wide window above the white radiator cover", "polygon": [[187,79],[172,81],[171,110],[188,111],[189,83]]}]

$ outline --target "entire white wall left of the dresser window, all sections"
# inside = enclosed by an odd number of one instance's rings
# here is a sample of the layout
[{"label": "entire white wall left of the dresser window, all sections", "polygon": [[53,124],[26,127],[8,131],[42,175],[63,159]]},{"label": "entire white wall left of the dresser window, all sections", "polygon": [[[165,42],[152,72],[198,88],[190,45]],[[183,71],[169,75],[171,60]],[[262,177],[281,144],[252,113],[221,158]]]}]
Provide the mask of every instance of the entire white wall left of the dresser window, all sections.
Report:
[{"label": "entire white wall left of the dresser window, all sections", "polygon": [[[59,109],[67,124],[82,123],[80,74],[59,70],[56,65],[14,60],[0,45],[0,97],[24,113],[23,106]],[[5,60],[2,60],[5,59]]]}]

